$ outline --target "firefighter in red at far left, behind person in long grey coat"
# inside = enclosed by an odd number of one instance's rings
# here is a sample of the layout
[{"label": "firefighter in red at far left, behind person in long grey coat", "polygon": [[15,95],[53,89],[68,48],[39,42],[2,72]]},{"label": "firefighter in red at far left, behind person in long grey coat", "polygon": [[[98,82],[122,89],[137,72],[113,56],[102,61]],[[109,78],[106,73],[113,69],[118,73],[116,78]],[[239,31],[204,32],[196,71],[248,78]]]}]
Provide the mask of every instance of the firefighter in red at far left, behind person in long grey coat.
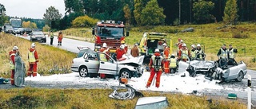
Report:
[{"label": "firefighter in red at far left, behind person in long grey coat", "polygon": [[16,51],[18,50],[17,46],[14,46],[13,50],[10,51],[9,56],[10,56],[10,84],[14,85],[14,74],[15,74],[15,55],[16,55]]}]

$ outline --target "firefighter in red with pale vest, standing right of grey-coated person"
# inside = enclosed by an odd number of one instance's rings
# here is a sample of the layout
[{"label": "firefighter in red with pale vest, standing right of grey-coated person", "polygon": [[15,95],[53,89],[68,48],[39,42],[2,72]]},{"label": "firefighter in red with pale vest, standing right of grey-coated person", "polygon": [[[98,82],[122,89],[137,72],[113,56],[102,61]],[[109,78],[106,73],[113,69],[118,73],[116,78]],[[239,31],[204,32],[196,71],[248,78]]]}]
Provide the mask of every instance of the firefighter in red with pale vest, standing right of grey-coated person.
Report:
[{"label": "firefighter in red with pale vest, standing right of grey-coated person", "polygon": [[29,70],[27,71],[27,76],[37,76],[37,73],[38,73],[38,52],[37,50],[35,49],[35,44],[32,43],[31,44],[31,48],[30,48],[30,51],[29,51],[29,55],[28,55],[28,59],[29,59],[29,64],[30,64],[30,68]]}]

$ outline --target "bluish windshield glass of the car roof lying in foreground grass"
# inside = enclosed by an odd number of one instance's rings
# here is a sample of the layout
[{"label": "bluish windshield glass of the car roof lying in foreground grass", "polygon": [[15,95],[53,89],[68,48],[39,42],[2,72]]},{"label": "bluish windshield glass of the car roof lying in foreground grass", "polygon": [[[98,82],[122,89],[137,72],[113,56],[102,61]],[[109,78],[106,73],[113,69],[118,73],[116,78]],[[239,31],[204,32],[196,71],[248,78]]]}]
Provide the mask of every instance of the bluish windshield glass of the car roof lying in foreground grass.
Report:
[{"label": "bluish windshield glass of the car roof lying in foreground grass", "polygon": [[137,105],[135,109],[165,109],[166,107],[168,107],[168,102],[167,100],[164,100],[156,103]]}]

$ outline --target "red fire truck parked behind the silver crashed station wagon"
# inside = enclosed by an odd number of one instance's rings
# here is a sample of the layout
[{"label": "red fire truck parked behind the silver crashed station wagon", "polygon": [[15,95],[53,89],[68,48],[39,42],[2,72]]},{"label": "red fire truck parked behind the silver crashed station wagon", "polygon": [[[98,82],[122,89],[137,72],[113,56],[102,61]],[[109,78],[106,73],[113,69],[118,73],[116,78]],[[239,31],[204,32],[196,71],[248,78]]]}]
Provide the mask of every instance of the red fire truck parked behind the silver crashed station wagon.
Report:
[{"label": "red fire truck parked behind the silver crashed station wagon", "polygon": [[110,48],[110,53],[115,53],[121,45],[121,41],[125,41],[125,37],[129,36],[129,32],[126,32],[125,36],[125,25],[122,21],[117,23],[114,21],[98,21],[92,34],[95,36],[94,51],[98,51],[102,44],[106,43]]}]

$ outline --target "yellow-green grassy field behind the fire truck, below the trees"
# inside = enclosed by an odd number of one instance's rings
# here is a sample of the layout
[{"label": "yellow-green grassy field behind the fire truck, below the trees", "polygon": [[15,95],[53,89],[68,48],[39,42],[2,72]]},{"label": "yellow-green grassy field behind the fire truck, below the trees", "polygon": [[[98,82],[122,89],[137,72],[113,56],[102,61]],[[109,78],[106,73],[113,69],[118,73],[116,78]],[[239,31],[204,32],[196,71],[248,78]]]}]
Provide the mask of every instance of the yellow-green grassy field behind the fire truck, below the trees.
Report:
[{"label": "yellow-green grassy field behind the fire truck, below the trees", "polygon": [[[146,27],[127,27],[130,31],[130,36],[126,37],[126,44],[130,48],[134,43],[141,40],[144,32],[161,32],[168,33],[167,38],[171,39],[175,44],[178,38],[186,43],[190,49],[190,45],[197,45],[200,43],[202,49],[205,50],[206,60],[218,60],[218,49],[223,44],[232,44],[235,49],[238,49],[236,60],[245,61],[247,67],[256,69],[256,24],[243,22],[238,25],[222,25],[218,23],[206,25],[180,25],[180,26],[146,26]],[[182,33],[183,29],[192,27],[194,32]],[[63,30],[64,37],[79,39],[82,41],[94,42],[94,37],[91,35],[92,29],[79,28],[79,29],[66,29]],[[170,41],[167,41],[170,43]],[[172,46],[175,54],[177,47]]]}]

